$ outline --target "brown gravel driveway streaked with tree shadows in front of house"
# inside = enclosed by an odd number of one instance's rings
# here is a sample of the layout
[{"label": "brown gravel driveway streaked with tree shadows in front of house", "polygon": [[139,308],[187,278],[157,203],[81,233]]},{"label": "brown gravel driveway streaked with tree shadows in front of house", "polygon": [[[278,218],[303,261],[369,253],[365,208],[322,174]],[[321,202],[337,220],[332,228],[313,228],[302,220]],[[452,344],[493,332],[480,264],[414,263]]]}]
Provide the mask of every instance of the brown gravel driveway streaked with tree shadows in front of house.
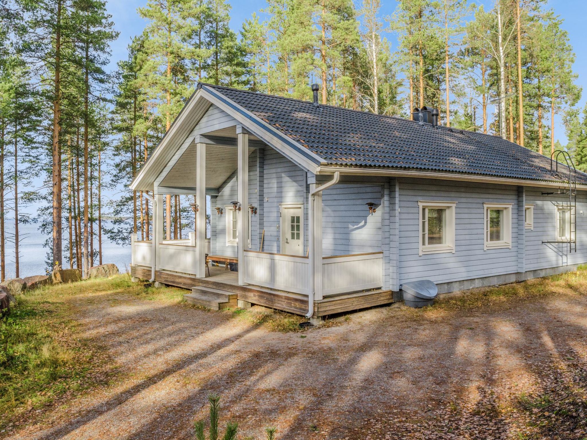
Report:
[{"label": "brown gravel driveway streaked with tree shadows in front of house", "polygon": [[380,307],[303,334],[131,295],[69,302],[122,377],[11,438],[187,439],[210,392],[241,439],[268,426],[279,439],[527,438],[500,408],[550,383],[552,365],[586,360],[585,295],[472,311]]}]

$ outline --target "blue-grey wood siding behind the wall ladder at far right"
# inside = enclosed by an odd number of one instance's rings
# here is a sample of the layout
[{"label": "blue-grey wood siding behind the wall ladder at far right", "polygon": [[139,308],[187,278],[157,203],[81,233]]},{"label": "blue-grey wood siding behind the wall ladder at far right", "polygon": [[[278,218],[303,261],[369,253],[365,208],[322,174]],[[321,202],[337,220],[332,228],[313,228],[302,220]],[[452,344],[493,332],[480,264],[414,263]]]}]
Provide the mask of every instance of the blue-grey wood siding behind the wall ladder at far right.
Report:
[{"label": "blue-grey wood siding behind the wall ladder at far right", "polygon": [[[564,188],[561,189],[564,191]],[[587,261],[587,194],[577,193],[576,239],[577,252],[569,252],[566,243],[542,243],[556,239],[556,204],[568,203],[568,195],[542,195],[558,192],[554,188],[526,188],[526,204],[534,205],[534,229],[525,230],[526,270],[575,265]]]}]

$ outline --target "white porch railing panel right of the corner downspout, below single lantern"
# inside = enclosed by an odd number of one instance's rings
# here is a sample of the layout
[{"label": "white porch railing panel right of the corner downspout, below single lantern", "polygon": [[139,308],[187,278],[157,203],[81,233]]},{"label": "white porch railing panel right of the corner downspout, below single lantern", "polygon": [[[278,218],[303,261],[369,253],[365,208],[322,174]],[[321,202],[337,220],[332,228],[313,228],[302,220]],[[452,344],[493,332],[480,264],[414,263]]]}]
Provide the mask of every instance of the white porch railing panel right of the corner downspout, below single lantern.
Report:
[{"label": "white porch railing panel right of the corner downspout, below single lantern", "polygon": [[383,252],[322,258],[322,293],[356,292],[383,286]]}]

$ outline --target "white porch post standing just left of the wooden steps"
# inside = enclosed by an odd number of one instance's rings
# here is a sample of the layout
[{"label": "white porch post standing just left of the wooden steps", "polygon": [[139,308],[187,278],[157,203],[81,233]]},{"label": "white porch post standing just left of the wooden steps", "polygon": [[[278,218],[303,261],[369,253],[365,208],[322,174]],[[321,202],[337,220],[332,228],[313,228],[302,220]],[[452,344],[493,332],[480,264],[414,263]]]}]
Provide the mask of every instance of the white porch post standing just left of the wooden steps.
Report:
[{"label": "white porch post standing just left of the wooden steps", "polygon": [[198,278],[206,276],[206,144],[196,144],[195,167],[195,201],[198,211],[195,214],[195,270]]}]

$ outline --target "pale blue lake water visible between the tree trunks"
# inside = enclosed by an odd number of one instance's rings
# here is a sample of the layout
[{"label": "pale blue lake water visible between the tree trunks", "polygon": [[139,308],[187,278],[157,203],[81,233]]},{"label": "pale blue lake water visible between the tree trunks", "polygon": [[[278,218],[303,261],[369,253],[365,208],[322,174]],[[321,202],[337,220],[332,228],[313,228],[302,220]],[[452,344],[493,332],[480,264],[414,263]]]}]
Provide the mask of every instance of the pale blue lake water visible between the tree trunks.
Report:
[{"label": "pale blue lake water visible between the tree trunks", "polygon": [[[103,221],[103,224],[106,223]],[[96,230],[97,225],[94,228]],[[21,224],[18,229],[21,235],[20,276],[43,275],[48,252],[48,249],[43,247],[43,243],[47,237],[42,235],[36,224]],[[6,219],[6,236],[13,234],[14,220]],[[94,240],[94,244],[97,247],[97,239]],[[102,235],[102,263],[114,263],[120,272],[127,272],[130,268],[130,238],[129,245],[120,246],[110,242],[105,235]],[[96,261],[95,264],[97,265],[98,262]],[[69,265],[65,265],[65,268],[69,268]],[[14,275],[14,242],[6,242],[6,278],[12,278]]]}]

